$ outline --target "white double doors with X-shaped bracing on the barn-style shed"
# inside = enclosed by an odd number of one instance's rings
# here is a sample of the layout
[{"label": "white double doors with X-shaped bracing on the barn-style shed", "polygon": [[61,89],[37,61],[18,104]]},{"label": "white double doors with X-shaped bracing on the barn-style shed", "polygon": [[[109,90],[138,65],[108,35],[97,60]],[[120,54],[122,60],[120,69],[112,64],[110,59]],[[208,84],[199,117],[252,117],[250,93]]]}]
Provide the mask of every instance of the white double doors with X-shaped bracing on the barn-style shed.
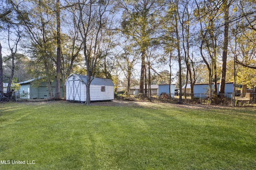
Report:
[{"label": "white double doors with X-shaped bracing on the barn-style shed", "polygon": [[68,100],[81,101],[80,80],[68,81]]}]

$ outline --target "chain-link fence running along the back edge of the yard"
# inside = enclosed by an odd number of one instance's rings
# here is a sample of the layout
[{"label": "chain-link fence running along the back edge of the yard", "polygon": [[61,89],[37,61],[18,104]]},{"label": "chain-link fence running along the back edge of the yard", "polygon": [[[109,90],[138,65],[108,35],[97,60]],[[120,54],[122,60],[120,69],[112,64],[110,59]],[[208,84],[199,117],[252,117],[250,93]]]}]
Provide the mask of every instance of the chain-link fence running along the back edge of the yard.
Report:
[{"label": "chain-link fence running along the back edge of the yard", "polygon": [[[54,94],[53,94],[54,95]],[[178,104],[180,102],[180,94],[178,93],[149,93],[147,94],[115,94],[116,100],[148,100],[148,101],[158,101],[158,102],[168,102]],[[39,97],[40,96],[40,97]],[[66,99],[65,93],[60,94],[61,98]],[[146,97],[147,96],[147,97]],[[171,96],[171,97],[170,97]],[[38,98],[39,97],[39,98]],[[20,92],[12,92],[12,100],[22,101],[22,100],[48,100],[50,98],[48,93],[20,93]],[[190,94],[190,93],[182,93],[182,103],[186,104],[202,104],[209,105],[210,98],[209,94],[200,93],[200,94]],[[212,95],[212,104],[213,105],[225,105],[225,106],[254,106],[256,107],[256,94],[254,93],[246,93],[246,94],[234,94],[226,93],[226,94],[213,94]]]}]

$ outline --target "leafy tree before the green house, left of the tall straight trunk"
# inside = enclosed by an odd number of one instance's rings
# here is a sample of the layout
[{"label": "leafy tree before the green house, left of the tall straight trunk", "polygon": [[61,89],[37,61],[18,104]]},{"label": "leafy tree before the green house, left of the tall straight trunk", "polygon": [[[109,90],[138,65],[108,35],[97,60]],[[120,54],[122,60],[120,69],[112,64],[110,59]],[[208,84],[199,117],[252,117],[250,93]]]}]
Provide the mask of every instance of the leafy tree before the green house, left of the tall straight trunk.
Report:
[{"label": "leafy tree before the green house, left of the tall straight trunk", "polygon": [[[22,3],[12,2],[13,9],[22,19],[22,24],[26,30],[26,43],[34,64],[40,64],[39,76],[45,76],[50,98],[54,97],[52,89],[52,74],[54,71],[54,3],[46,1],[31,0]],[[23,9],[22,11],[20,9]],[[39,65],[38,65],[39,66]]]}]

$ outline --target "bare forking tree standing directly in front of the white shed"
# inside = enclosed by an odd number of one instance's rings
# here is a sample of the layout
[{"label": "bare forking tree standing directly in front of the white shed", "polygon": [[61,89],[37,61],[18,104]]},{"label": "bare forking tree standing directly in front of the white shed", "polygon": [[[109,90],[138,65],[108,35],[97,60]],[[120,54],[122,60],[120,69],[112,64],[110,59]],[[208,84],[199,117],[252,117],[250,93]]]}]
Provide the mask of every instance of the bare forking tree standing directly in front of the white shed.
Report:
[{"label": "bare forking tree standing directly in front of the white shed", "polygon": [[86,65],[86,104],[90,105],[90,83],[92,82],[100,54],[100,41],[102,41],[101,31],[107,22],[108,12],[111,12],[110,0],[106,1],[86,1],[78,0],[74,2],[76,6],[76,22],[83,43],[83,55]]}]

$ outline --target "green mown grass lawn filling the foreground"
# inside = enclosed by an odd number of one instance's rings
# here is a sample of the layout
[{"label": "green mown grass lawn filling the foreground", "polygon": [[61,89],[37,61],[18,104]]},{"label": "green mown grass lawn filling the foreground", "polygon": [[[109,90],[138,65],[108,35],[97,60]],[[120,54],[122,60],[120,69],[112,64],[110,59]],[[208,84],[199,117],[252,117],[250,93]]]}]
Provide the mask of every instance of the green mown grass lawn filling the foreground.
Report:
[{"label": "green mown grass lawn filling the foreground", "polygon": [[255,108],[6,103],[0,134],[0,169],[256,169]]}]

